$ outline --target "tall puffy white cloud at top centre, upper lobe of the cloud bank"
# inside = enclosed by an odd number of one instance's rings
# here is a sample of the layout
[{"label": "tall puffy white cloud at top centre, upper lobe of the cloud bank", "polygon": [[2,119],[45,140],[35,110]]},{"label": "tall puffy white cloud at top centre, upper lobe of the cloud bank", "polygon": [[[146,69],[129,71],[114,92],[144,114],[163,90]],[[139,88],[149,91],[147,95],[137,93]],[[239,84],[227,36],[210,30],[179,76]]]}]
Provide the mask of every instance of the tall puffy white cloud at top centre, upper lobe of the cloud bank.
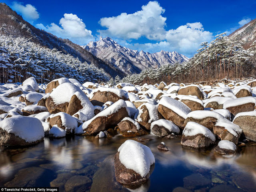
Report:
[{"label": "tall puffy white cloud at top centre, upper lobe of the cloud bank", "polygon": [[142,6],[142,10],[133,14],[122,13],[116,17],[101,18],[99,23],[106,30],[98,30],[103,36],[115,36],[122,39],[138,39],[142,36],[150,40],[163,40],[166,34],[164,9],[156,1]]}]

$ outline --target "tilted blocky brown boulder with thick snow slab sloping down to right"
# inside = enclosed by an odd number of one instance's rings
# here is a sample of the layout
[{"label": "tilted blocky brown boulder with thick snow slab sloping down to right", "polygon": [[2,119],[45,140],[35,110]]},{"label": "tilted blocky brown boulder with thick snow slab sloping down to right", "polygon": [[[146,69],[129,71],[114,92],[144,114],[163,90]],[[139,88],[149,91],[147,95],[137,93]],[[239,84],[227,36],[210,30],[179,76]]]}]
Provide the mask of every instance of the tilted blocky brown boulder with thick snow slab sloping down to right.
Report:
[{"label": "tilted blocky brown boulder with thick snow slab sloping down to right", "polygon": [[184,103],[170,97],[162,97],[158,112],[167,120],[174,122],[179,127],[184,127],[184,120],[191,109]]}]

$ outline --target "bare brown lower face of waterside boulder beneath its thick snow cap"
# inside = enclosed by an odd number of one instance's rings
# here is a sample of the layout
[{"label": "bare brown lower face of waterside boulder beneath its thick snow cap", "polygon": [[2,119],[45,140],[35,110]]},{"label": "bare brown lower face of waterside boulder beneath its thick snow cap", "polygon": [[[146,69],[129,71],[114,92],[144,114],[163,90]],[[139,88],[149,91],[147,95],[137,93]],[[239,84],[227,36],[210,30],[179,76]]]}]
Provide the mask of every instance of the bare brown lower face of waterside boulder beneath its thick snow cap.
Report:
[{"label": "bare brown lower face of waterside boulder beneath its thick snow cap", "polygon": [[204,136],[203,134],[197,134],[194,136],[184,136],[182,135],[181,142],[183,146],[188,146],[192,148],[206,148],[210,145],[214,144],[215,142],[212,141],[210,138]]}]

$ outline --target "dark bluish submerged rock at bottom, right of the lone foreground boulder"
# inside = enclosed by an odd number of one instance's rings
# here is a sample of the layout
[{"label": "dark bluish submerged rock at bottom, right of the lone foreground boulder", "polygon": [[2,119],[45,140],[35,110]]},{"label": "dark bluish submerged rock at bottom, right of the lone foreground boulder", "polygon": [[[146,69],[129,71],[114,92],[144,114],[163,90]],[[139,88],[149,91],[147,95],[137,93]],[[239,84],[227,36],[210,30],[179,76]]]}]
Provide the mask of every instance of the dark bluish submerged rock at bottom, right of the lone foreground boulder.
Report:
[{"label": "dark bluish submerged rock at bottom, right of the lone foreground boulder", "polygon": [[202,187],[210,187],[212,181],[201,174],[196,173],[185,177],[183,182],[184,187],[187,189],[198,189]]}]

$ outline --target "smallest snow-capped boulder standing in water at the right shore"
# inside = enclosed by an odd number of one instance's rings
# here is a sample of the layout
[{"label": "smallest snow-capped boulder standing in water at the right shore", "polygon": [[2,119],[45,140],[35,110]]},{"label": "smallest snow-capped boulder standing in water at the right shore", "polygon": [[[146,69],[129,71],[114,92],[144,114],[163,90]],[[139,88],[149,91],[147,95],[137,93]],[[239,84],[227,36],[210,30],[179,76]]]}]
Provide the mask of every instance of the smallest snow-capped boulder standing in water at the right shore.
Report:
[{"label": "smallest snow-capped boulder standing in water at the right shore", "polygon": [[236,145],[228,140],[221,140],[214,148],[214,151],[221,155],[230,155],[236,152]]}]

